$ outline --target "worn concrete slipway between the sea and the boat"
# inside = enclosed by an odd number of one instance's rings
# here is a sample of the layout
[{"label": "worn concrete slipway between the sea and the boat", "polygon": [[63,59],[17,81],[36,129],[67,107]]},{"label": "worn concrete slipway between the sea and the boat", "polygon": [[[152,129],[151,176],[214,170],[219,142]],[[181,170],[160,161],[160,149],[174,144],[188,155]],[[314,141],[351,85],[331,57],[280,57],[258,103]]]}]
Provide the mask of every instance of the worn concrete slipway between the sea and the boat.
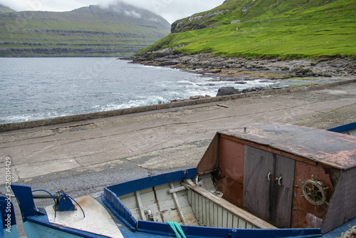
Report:
[{"label": "worn concrete slipway between the sea and the boat", "polygon": [[[0,174],[5,174],[5,158],[10,157],[13,183],[33,190],[64,190],[73,197],[100,192],[125,180],[195,167],[219,130],[271,122],[326,129],[354,122],[355,82],[353,77],[323,86],[236,95],[234,100],[227,96],[4,131]],[[1,176],[1,192],[4,179]]]}]

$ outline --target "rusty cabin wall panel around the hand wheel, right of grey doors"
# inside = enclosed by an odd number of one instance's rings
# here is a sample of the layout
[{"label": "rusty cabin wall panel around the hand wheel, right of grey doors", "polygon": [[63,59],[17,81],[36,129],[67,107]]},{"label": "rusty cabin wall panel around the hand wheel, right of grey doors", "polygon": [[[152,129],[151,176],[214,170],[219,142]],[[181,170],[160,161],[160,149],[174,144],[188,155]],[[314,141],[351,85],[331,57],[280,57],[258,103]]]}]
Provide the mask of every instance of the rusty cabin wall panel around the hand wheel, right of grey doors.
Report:
[{"label": "rusty cabin wall panel around the hand wheel, right of grey doors", "polygon": [[[292,228],[320,228],[323,222],[328,205],[315,207],[308,202],[305,197],[302,197],[303,183],[305,180],[312,179],[323,182],[328,189],[327,202],[330,200],[335,187],[335,183],[340,175],[340,170],[333,167],[317,163],[310,165],[305,162],[295,161],[295,178],[294,178],[294,195],[292,209]],[[302,182],[300,182],[302,181]]]}]

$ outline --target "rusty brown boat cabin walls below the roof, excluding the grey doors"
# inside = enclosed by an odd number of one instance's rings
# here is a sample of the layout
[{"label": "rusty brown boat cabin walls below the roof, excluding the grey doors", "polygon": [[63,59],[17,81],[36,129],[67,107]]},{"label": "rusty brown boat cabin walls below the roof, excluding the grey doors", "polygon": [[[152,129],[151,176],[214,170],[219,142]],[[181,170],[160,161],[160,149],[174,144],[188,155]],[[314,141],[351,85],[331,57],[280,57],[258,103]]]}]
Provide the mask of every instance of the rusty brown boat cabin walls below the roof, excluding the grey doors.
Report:
[{"label": "rusty brown boat cabin walls below the roof, excluding the grey doors", "polygon": [[[337,227],[356,217],[356,190],[352,190],[355,186],[356,168],[350,171],[342,172],[345,176],[343,180],[345,187],[339,184],[340,190],[334,192],[336,182],[339,180],[341,171],[339,168],[325,165],[314,160],[309,160],[305,157],[300,157],[293,153],[284,152],[276,148],[271,148],[266,145],[253,143],[248,140],[241,140],[233,135],[226,135],[224,133],[217,133],[214,140],[209,145],[206,154],[198,165],[198,172],[214,171],[212,173],[216,190],[224,193],[224,199],[233,203],[238,207],[243,207],[244,201],[244,162],[245,162],[245,146],[252,146],[261,150],[282,155],[295,160],[294,170],[294,187],[293,187],[293,200],[291,209],[291,227],[292,228],[320,228],[323,224],[323,231],[330,230],[330,227]],[[315,205],[308,202],[303,195],[302,186],[300,182],[310,180],[312,175],[315,180],[323,182],[325,187],[328,188],[327,202],[315,208]],[[261,175],[266,177],[266,175]],[[350,177],[354,178],[353,180]],[[342,180],[340,180],[342,181]],[[347,187],[348,186],[348,187]],[[344,191],[345,190],[345,191]],[[347,192],[351,192],[348,194]],[[344,192],[345,194],[342,194]],[[334,194],[334,195],[333,195]],[[331,200],[330,197],[333,197]],[[353,197],[352,197],[353,196]],[[342,197],[348,197],[348,202],[345,203]],[[340,205],[345,203],[347,206]],[[328,208],[330,207],[330,208]],[[339,209],[339,207],[341,209]],[[326,212],[328,211],[328,214]],[[333,212],[332,212],[333,211]],[[346,213],[345,213],[346,211]],[[342,214],[347,214],[346,217],[340,217]],[[333,217],[337,217],[333,219]],[[347,220],[346,220],[347,219]],[[331,229],[333,229],[331,228]]]}]

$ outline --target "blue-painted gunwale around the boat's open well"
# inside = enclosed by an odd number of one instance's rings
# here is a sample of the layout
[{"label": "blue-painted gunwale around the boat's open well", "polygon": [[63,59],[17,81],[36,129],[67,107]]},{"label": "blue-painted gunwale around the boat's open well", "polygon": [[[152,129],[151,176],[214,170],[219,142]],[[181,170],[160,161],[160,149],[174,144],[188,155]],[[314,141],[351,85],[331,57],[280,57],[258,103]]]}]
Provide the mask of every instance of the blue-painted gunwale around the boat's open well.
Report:
[{"label": "blue-painted gunwale around the boat's open well", "polygon": [[[187,170],[177,170],[160,175],[143,177],[137,180],[122,182],[104,188],[102,196],[103,202],[122,220],[130,229],[136,229],[138,232],[150,234],[172,234],[169,224],[163,222],[150,222],[136,220],[125,205],[123,205],[119,196],[144,190],[149,187],[155,187],[168,182],[191,179],[197,176],[197,168]],[[134,186],[135,185],[135,186]],[[127,189],[127,190],[125,190]],[[125,192],[122,192],[124,191]],[[181,225],[187,237],[320,237],[320,228],[290,228],[290,229],[237,229],[237,228],[220,228],[220,227],[197,227],[191,225]],[[266,233],[267,232],[267,233]]]}]

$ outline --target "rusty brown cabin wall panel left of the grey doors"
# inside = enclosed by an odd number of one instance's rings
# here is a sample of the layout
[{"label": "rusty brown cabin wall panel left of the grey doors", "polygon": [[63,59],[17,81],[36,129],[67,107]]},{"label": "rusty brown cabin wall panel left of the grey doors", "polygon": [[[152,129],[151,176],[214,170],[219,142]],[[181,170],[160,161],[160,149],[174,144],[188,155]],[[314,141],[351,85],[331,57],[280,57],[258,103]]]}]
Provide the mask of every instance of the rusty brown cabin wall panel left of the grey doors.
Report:
[{"label": "rusty brown cabin wall panel left of the grey doors", "polygon": [[224,199],[243,206],[244,193],[244,144],[235,138],[221,135],[219,146],[219,175],[216,190],[224,193]]}]

